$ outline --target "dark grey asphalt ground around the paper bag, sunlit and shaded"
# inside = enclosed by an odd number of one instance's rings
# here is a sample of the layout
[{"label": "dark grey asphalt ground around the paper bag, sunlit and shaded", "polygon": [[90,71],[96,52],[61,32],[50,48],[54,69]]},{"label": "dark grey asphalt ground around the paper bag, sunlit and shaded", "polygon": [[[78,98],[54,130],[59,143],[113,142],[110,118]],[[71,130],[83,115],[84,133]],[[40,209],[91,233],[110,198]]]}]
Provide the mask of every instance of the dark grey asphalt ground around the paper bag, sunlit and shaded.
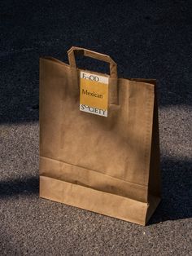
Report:
[{"label": "dark grey asphalt ground around the paper bag, sunlit and shaded", "polygon": [[[192,254],[191,26],[191,1],[0,2],[1,255]],[[159,81],[163,200],[146,227],[38,197],[38,60],[71,46]]]}]

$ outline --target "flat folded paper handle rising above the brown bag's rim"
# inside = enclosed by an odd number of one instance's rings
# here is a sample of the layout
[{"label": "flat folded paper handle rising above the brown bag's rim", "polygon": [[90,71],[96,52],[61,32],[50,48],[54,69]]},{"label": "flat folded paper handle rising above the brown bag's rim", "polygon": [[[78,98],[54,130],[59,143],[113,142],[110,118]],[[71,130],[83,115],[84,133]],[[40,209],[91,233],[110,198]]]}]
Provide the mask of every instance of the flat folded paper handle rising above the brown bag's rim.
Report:
[{"label": "flat folded paper handle rising above the brown bag's rim", "polygon": [[72,46],[71,49],[68,50],[68,61],[72,68],[76,68],[76,59],[74,51],[76,51],[79,54],[85,55],[89,58],[93,58],[96,60],[102,60],[104,62],[107,62],[110,64],[110,77],[117,77],[117,67],[116,62],[111,59],[108,55],[103,55],[101,53],[98,53],[96,51],[90,51],[81,47]]}]

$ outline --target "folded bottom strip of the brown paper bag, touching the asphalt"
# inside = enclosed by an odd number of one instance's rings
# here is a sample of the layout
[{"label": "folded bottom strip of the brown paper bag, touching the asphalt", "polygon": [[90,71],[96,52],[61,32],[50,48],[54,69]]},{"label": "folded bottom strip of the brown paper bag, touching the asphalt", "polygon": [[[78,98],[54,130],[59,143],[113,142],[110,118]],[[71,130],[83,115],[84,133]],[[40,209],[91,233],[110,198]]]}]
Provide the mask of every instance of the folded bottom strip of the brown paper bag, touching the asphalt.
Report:
[{"label": "folded bottom strip of the brown paper bag, touching the asphalt", "polygon": [[145,226],[154,213],[160,198],[152,203],[135,201],[115,194],[94,190],[59,179],[40,176],[40,197],[75,206],[98,214],[119,218]]}]

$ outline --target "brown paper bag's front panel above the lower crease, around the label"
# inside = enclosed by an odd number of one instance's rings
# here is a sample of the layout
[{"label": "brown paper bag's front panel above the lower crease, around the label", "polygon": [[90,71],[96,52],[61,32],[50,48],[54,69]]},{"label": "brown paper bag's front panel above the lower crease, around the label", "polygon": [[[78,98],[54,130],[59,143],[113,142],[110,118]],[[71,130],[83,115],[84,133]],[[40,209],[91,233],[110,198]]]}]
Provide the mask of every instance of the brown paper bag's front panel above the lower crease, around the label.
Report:
[{"label": "brown paper bag's front panel above the lower crease, around the label", "polygon": [[78,79],[68,65],[41,60],[40,76],[41,157],[146,187],[154,86],[119,79],[119,106],[99,117],[79,110]]}]

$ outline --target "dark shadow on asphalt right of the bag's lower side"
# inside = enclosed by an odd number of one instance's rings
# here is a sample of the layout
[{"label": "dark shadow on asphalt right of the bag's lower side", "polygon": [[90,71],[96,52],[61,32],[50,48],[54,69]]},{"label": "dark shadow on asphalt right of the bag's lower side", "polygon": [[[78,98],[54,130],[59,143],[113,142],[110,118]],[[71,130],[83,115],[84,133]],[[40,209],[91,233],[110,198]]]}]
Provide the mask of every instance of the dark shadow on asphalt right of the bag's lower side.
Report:
[{"label": "dark shadow on asphalt right of the bag's lower side", "polygon": [[162,201],[149,225],[192,217],[191,167],[192,161],[163,159]]}]

